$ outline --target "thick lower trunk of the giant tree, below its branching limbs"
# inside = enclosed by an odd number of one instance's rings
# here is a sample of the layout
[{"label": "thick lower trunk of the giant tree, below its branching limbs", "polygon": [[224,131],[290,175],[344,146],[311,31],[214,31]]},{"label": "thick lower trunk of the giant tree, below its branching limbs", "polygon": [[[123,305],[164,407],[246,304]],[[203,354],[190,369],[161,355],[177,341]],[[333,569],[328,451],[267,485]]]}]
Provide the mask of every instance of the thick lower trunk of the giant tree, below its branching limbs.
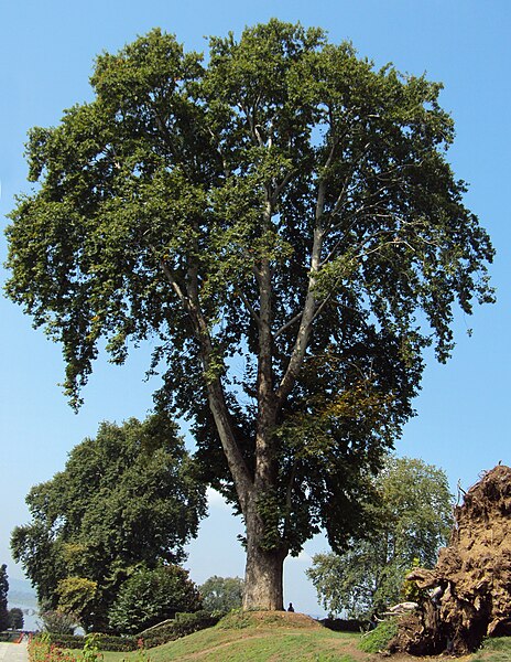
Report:
[{"label": "thick lower trunk of the giant tree, below its branching limbs", "polygon": [[247,543],[243,609],[282,611],[285,552],[261,549],[256,536]]}]

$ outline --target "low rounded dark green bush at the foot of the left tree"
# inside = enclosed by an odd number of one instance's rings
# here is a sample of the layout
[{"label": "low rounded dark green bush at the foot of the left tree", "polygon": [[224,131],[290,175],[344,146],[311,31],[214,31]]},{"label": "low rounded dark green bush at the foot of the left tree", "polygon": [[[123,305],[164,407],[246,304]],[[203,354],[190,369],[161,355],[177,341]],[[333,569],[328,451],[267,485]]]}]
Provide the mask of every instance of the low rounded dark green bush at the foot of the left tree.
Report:
[{"label": "low rounded dark green bush at the foot of the left tree", "polygon": [[110,626],[134,634],[174,618],[177,611],[197,611],[200,594],[187,570],[176,565],[140,568],[124,581],[109,612]]}]

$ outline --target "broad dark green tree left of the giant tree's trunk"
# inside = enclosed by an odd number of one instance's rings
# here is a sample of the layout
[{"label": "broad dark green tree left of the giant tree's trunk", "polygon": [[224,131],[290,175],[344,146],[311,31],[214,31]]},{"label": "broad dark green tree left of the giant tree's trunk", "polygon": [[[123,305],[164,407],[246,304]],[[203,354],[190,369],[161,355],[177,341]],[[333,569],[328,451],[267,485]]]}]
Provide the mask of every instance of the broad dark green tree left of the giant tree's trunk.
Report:
[{"label": "broad dark green tree left of the giant tree's trunk", "polygon": [[70,612],[94,629],[107,627],[135,567],[185,558],[206,511],[205,488],[164,415],[101,424],[26,502],[32,522],[13,531],[14,558],[45,610]]}]

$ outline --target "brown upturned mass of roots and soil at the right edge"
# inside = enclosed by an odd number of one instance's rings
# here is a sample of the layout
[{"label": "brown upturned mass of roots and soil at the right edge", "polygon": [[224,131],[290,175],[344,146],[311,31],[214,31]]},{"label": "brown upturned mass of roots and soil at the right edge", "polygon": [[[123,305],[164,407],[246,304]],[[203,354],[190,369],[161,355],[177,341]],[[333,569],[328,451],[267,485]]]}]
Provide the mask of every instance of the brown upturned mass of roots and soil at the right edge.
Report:
[{"label": "brown upturned mass of roots and soil at the right edge", "polygon": [[391,650],[461,655],[483,637],[511,634],[511,468],[498,466],[470,488],[436,567],[409,579],[428,590],[400,621]]}]

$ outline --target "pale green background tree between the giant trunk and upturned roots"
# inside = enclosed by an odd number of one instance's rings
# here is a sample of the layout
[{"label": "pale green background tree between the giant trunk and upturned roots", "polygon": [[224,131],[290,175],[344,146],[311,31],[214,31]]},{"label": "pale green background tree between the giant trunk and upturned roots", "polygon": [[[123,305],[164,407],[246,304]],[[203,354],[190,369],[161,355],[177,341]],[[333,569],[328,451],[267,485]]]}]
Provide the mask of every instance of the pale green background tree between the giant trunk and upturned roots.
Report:
[{"label": "pale green background tree between the giant trunk and upturned roots", "polygon": [[307,576],[331,615],[368,618],[403,599],[406,572],[436,564],[453,526],[447,477],[432,465],[391,458],[378,478],[377,523],[367,540],[352,540],[341,554],[316,554]]}]

